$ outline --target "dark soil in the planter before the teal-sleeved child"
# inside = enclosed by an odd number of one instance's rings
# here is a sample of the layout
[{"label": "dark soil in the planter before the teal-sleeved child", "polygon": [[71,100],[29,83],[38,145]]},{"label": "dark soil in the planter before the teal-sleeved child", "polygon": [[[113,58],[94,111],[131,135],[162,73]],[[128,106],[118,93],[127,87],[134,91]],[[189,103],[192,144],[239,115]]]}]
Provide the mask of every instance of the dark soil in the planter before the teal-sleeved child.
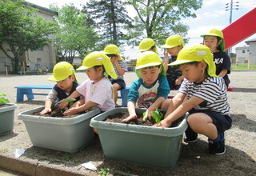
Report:
[{"label": "dark soil in the planter before the teal-sleeved child", "polygon": [[[163,113],[164,114],[164,113]],[[165,114],[164,114],[165,115]],[[130,120],[129,122],[123,122],[122,120],[125,118],[128,118],[129,113],[128,112],[122,112],[122,113],[117,113],[108,116],[105,121],[106,122],[117,122],[117,123],[126,123],[126,124],[134,124],[134,125],[140,125],[140,126],[153,126],[155,124],[154,119],[151,118],[151,120],[148,121],[143,121],[143,114],[137,114],[138,118]],[[178,119],[177,121],[173,122],[170,127],[175,127],[182,122],[183,118]]]}]

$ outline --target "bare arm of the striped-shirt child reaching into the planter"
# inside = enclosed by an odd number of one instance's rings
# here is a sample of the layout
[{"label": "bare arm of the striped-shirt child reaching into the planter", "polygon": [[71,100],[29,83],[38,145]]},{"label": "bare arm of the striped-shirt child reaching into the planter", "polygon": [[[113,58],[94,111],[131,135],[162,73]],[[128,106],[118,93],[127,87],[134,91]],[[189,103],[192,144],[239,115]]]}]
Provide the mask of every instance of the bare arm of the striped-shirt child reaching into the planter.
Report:
[{"label": "bare arm of the striped-shirt child reaching into the planter", "polygon": [[[198,98],[193,96],[187,101],[182,102],[180,106],[176,110],[174,110],[171,114],[167,115],[166,118],[164,118],[161,122],[154,126],[159,126],[159,127],[169,127],[171,126],[172,122],[177,120],[178,118],[181,118],[182,115],[186,114],[189,110],[191,110],[194,106],[199,105],[202,103],[203,100],[202,98]],[[175,106],[175,104],[174,104]]]}]

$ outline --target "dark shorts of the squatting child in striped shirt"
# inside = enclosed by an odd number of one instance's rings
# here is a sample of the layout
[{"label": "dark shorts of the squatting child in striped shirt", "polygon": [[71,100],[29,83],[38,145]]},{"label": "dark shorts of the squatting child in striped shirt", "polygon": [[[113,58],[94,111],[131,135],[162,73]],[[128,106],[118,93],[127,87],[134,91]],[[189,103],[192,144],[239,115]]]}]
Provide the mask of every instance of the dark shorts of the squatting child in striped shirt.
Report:
[{"label": "dark shorts of the squatting child in striped shirt", "polygon": [[207,114],[214,122],[214,125],[217,127],[218,133],[223,133],[225,130],[229,130],[232,126],[232,119],[228,115],[222,115],[218,112],[212,110],[195,110],[192,109],[189,111],[190,114],[194,113],[204,113]]}]

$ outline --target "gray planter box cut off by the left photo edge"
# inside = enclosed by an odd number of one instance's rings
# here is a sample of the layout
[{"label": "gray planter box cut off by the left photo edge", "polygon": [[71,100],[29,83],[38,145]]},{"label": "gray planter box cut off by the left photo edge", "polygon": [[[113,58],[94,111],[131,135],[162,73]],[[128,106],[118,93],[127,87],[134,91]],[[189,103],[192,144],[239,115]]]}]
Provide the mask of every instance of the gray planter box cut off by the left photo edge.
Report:
[{"label": "gray planter box cut off by the left photo edge", "polygon": [[0,135],[14,130],[14,110],[17,105],[7,103],[10,106],[0,108]]}]

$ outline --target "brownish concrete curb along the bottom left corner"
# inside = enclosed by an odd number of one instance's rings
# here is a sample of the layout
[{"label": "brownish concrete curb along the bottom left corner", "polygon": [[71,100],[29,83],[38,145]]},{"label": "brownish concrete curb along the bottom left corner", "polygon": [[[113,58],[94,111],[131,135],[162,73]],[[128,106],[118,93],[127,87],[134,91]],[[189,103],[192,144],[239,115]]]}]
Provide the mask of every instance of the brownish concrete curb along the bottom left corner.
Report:
[{"label": "brownish concrete curb along the bottom left corner", "polygon": [[[61,170],[51,166],[39,164],[38,162],[28,162],[18,158],[10,158],[0,155],[0,167],[31,176],[85,176],[87,174],[76,173],[70,170]],[[89,175],[88,175],[89,176]]]}]

